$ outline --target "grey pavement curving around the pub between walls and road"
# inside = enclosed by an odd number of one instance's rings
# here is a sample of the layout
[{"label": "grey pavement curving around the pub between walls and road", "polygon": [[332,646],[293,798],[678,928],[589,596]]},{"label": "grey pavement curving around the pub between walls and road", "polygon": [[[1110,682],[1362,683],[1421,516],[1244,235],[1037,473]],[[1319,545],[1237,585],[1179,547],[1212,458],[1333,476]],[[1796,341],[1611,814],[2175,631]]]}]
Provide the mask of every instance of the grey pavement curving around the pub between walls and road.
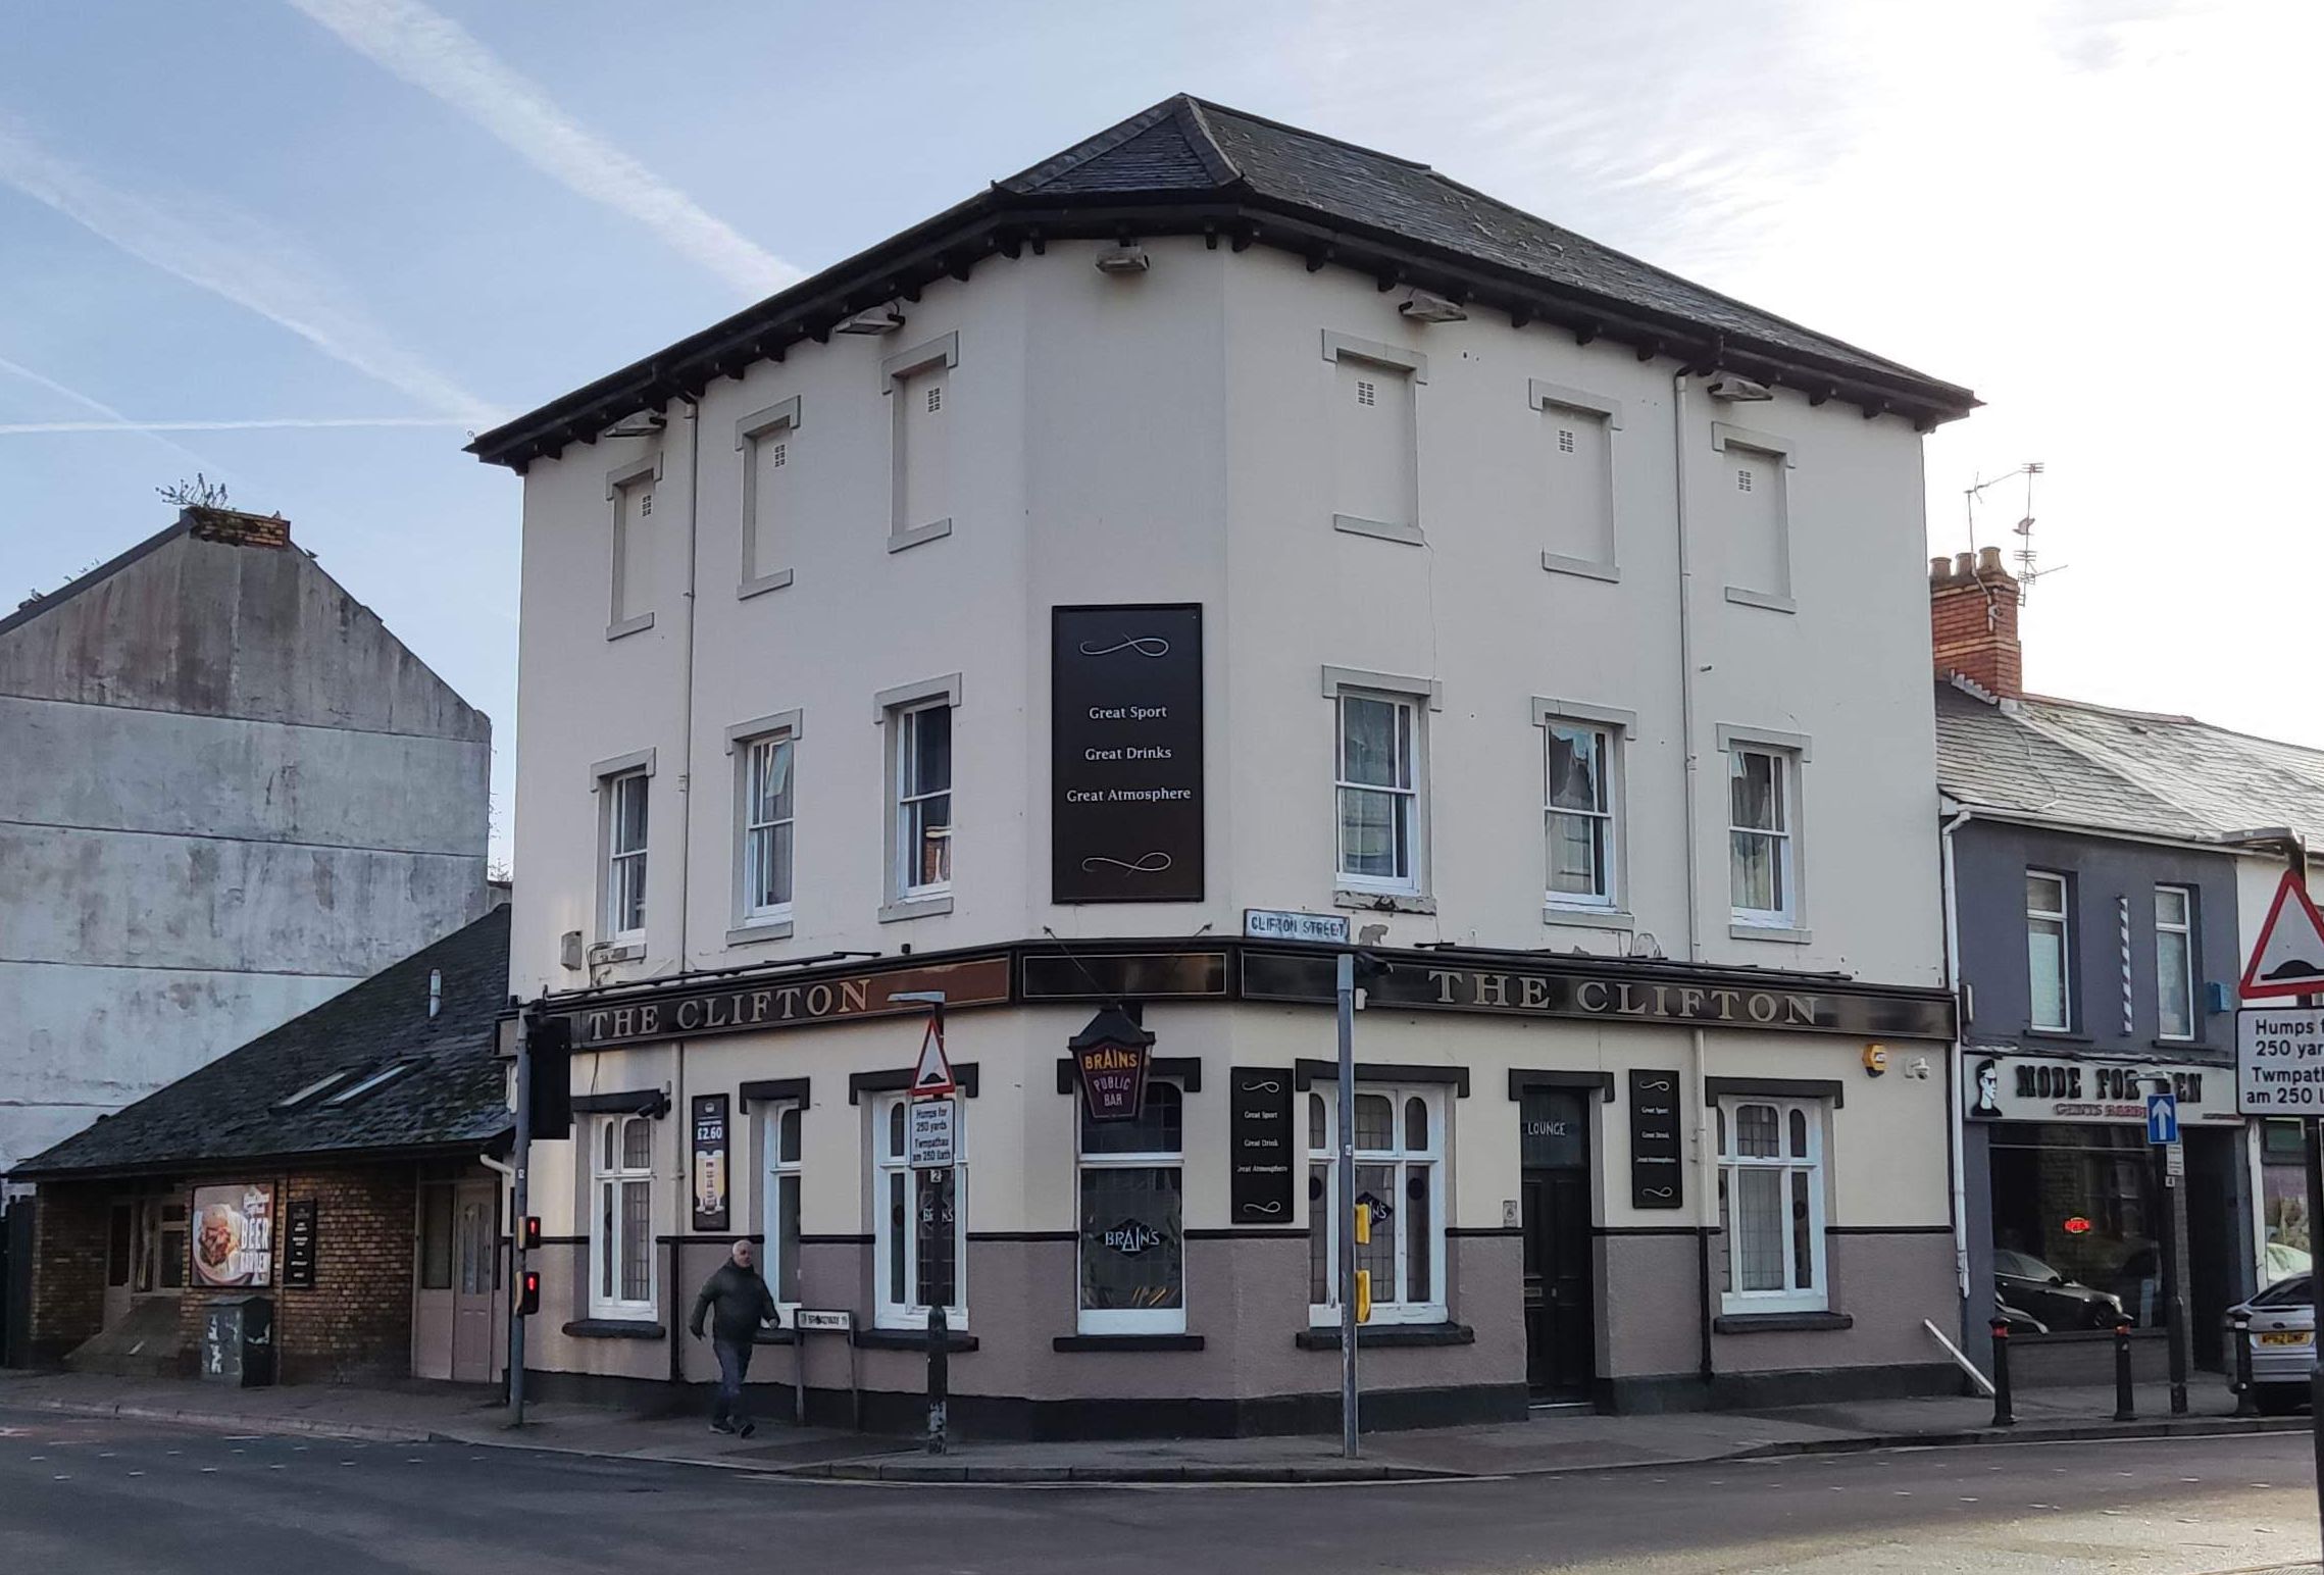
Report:
[{"label": "grey pavement curving around the pub between walls and road", "polygon": [[700,1417],[639,1417],[572,1403],[537,1403],[511,1429],[507,1408],[476,1389],[232,1389],[193,1380],[91,1373],[0,1373],[0,1408],[316,1438],[521,1447],[593,1459],[718,1466],[727,1470],[858,1482],[1397,1482],[1534,1477],[1703,1461],[1752,1461],[1896,1447],[2180,1438],[2305,1431],[2305,1417],[2233,1417],[2217,1378],[2189,1389],[2189,1415],[2171,1417],[2161,1387],[2138,1394],[2140,1417],[2115,1422],[2110,1387],[2027,1389],[2017,1424],[1992,1426],[1992,1401],[1948,1396],[1778,1410],[1604,1417],[1541,1410],[1527,1422],[1369,1433],[1362,1457],[1339,1438],[1141,1438],[1083,1443],[953,1440],[927,1454],[918,1440],[790,1426],[767,1419],[755,1438],[709,1431]]}]

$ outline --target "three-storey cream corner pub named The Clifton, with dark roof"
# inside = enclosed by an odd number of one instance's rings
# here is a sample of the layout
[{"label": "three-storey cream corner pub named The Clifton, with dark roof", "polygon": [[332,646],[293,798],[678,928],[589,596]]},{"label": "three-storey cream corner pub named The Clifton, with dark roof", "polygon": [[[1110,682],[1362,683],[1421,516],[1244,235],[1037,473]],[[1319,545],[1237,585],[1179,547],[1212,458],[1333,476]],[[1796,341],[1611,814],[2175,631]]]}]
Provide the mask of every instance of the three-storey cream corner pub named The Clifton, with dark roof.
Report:
[{"label": "three-storey cream corner pub named The Clifton, with dark roof", "polygon": [[776,1410],[918,1426],[944,1308],[967,1431],[1329,1429],[1357,1208],[1367,1426],[1957,1387],[1971,404],[1171,98],[479,437],[532,1391],[709,1382],[751,1236]]}]

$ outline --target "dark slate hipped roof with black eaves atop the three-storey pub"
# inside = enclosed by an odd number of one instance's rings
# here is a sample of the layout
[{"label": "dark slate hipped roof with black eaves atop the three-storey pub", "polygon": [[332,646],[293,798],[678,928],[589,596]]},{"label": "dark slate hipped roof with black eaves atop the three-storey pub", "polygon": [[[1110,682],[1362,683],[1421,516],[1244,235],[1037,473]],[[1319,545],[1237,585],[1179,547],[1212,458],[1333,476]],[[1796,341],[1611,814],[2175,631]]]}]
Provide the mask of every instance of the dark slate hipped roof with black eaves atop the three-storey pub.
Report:
[{"label": "dark slate hipped roof with black eaves atop the three-storey pub", "polygon": [[1313,267],[1353,267],[1776,381],[1815,400],[1896,411],[1917,425],[1966,416],[1975,395],[1708,290],[1573,230],[1497,202],[1422,163],[1176,95],[1055,158],[837,262],[611,376],[481,434],[469,453],[523,469],[565,444],[674,397],[697,395],[841,318],[995,253],[1046,239],[1206,235],[1241,251],[1281,246]]}]

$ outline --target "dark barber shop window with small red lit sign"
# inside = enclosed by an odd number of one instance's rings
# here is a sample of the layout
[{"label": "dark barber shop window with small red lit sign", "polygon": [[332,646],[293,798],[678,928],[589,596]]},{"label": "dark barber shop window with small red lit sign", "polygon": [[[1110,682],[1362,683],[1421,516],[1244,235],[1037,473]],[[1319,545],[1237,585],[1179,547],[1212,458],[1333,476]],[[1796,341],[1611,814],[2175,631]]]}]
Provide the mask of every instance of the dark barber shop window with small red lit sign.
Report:
[{"label": "dark barber shop window with small red lit sign", "polygon": [[2168,1194],[2145,1129],[1999,1122],[1989,1134],[2001,1303],[2052,1333],[2164,1324]]}]

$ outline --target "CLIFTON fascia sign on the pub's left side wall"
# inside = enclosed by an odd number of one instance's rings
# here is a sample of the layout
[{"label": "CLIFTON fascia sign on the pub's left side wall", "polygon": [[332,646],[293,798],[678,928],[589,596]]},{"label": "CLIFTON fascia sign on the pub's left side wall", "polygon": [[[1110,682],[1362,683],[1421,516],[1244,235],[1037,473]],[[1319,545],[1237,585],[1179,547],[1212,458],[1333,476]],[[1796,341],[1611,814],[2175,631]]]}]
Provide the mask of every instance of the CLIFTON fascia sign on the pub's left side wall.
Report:
[{"label": "CLIFTON fascia sign on the pub's left side wall", "polygon": [[925,1004],[897,1001],[895,997],[927,990],[941,990],[946,1006],[1002,1006],[1009,1001],[1009,959],[981,957],[925,969],[753,980],[723,990],[674,990],[641,1001],[590,1006],[572,1015],[574,1050],[706,1034],[804,1029],[853,1017],[925,1015]]}]

